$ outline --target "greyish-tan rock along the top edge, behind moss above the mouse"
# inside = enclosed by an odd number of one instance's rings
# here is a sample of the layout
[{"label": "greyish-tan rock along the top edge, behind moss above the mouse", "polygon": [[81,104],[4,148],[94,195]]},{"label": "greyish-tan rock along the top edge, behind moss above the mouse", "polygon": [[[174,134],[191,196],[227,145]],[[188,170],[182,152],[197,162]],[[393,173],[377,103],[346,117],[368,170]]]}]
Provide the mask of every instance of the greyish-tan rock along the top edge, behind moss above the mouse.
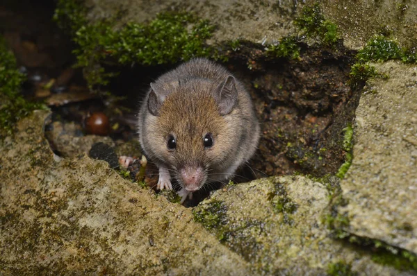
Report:
[{"label": "greyish-tan rock along the top edge, behind moss above the mouse", "polygon": [[192,0],[169,0],[149,5],[142,0],[133,1],[85,1],[91,8],[88,17],[91,19],[109,18],[117,10],[124,10],[123,17],[118,20],[120,26],[127,22],[142,23],[156,17],[158,12],[167,10],[183,10],[195,12],[197,17],[208,19],[218,26],[213,34],[213,42],[224,42],[244,38],[251,42],[270,42],[294,31],[292,17],[299,6],[297,1],[281,3],[277,1],[222,1],[210,3]]}]

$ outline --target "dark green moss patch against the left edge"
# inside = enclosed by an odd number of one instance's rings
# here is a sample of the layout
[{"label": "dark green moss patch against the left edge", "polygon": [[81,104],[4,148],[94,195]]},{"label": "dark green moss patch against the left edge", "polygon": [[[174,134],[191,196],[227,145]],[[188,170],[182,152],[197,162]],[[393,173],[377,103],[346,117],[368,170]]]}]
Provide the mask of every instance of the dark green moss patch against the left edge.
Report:
[{"label": "dark green moss patch against the left edge", "polygon": [[25,76],[17,70],[15,56],[0,36],[0,139],[13,133],[19,119],[33,110],[46,108],[22,97],[20,86],[24,79]]}]

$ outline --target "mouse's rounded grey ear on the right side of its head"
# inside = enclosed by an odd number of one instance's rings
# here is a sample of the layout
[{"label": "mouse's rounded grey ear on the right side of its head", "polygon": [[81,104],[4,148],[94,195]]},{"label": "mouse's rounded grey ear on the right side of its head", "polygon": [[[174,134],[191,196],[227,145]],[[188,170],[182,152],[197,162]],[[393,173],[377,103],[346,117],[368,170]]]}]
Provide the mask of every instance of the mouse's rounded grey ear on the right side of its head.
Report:
[{"label": "mouse's rounded grey ear on the right side of its head", "polygon": [[234,76],[227,76],[226,80],[216,89],[214,98],[218,103],[220,115],[229,114],[233,110],[238,102],[238,90]]}]

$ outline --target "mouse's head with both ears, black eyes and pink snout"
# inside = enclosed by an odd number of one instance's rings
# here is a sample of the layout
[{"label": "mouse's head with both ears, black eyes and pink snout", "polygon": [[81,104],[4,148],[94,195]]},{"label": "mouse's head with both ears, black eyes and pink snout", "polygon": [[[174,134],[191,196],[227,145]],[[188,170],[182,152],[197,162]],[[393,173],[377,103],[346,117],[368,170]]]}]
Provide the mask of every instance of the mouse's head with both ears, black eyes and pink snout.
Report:
[{"label": "mouse's head with both ears, black eyes and pink snout", "polygon": [[236,80],[227,76],[220,85],[183,80],[169,87],[152,83],[151,88],[152,152],[182,187],[197,191],[211,181],[213,168],[222,166],[238,144],[232,119],[237,112]]}]

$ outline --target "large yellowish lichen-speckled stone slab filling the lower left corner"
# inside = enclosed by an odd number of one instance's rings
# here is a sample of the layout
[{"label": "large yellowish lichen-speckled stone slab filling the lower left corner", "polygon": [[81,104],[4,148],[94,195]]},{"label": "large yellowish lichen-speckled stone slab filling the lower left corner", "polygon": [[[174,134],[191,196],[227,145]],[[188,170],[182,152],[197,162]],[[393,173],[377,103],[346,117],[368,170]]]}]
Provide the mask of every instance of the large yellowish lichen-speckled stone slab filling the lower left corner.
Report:
[{"label": "large yellowish lichen-speckled stone slab filling the lower left corner", "polygon": [[1,275],[251,275],[190,209],[120,178],[102,161],[62,159],[47,112],[0,144]]}]

